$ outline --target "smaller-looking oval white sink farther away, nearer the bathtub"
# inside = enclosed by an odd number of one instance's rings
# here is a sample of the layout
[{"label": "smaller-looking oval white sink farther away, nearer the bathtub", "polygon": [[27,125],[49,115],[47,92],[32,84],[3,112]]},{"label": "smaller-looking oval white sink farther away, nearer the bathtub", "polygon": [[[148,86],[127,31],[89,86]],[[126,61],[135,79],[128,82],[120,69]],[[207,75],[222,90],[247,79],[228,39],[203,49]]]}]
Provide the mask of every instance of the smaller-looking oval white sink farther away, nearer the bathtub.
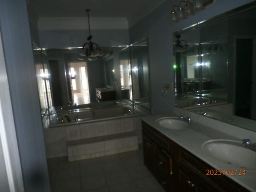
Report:
[{"label": "smaller-looking oval white sink farther away, nearer the bathtub", "polygon": [[167,129],[171,130],[183,130],[188,127],[188,123],[177,117],[164,117],[157,119],[156,122]]}]

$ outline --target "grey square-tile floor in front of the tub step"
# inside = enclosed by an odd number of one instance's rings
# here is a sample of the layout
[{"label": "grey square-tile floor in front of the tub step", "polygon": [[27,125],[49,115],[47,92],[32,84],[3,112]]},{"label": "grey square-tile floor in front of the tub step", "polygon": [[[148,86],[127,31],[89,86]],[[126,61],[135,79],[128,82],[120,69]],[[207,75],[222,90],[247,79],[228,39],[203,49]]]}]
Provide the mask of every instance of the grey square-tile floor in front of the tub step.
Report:
[{"label": "grey square-tile floor in front of the tub step", "polygon": [[48,159],[51,192],[164,192],[139,150],[68,162]]}]

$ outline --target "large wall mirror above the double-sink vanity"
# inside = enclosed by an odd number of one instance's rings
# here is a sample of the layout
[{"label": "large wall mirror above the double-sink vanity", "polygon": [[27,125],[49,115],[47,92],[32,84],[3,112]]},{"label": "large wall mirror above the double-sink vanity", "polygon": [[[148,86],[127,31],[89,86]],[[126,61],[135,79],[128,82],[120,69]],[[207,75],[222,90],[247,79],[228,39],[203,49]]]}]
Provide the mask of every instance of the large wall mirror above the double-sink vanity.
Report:
[{"label": "large wall mirror above the double-sink vanity", "polygon": [[175,32],[175,106],[256,131],[256,2]]}]

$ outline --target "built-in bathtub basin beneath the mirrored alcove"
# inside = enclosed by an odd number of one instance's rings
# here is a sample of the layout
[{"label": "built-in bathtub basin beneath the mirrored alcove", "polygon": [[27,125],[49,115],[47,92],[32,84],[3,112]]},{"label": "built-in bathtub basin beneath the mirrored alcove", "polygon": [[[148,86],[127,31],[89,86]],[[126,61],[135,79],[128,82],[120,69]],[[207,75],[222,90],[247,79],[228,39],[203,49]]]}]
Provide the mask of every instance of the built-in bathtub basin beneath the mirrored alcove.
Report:
[{"label": "built-in bathtub basin beneath the mirrored alcove", "polygon": [[[109,106],[104,108],[79,108],[72,110],[62,109],[56,110],[56,114],[54,114],[50,127],[62,126],[63,124],[69,125],[99,120],[110,120],[136,115],[140,115],[140,113],[128,105]],[[68,118],[70,122],[68,122]]]}]

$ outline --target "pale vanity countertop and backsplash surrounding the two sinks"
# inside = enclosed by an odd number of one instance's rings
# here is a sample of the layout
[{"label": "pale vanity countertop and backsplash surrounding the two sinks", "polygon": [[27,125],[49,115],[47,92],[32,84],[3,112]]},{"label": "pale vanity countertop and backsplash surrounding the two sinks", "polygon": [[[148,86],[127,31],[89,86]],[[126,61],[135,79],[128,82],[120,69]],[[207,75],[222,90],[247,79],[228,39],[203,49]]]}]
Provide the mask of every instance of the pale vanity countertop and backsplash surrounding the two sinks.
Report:
[{"label": "pale vanity countertop and backsplash surrounding the two sinks", "polygon": [[[188,150],[190,153],[194,154],[208,165],[212,166],[217,170],[236,170],[236,167],[231,164],[226,164],[220,160],[217,160],[210,156],[208,152],[202,150],[202,144],[208,140],[213,139],[228,139],[228,140],[238,140],[241,141],[242,138],[249,138],[252,141],[256,139],[256,132],[250,130],[245,130],[230,124],[220,122],[205,116],[195,114],[186,110],[178,109],[175,110],[178,115],[186,115],[191,118],[191,124],[188,129],[184,130],[170,130],[161,127],[156,120],[158,118],[178,116],[174,114],[157,115],[144,117],[147,124],[154,127],[160,133],[164,134],[166,137],[170,138],[172,141],[176,142],[182,148]],[[242,158],[242,157],[241,157]],[[228,176],[244,188],[249,191],[256,192],[256,170],[246,169],[246,176]]]}]

